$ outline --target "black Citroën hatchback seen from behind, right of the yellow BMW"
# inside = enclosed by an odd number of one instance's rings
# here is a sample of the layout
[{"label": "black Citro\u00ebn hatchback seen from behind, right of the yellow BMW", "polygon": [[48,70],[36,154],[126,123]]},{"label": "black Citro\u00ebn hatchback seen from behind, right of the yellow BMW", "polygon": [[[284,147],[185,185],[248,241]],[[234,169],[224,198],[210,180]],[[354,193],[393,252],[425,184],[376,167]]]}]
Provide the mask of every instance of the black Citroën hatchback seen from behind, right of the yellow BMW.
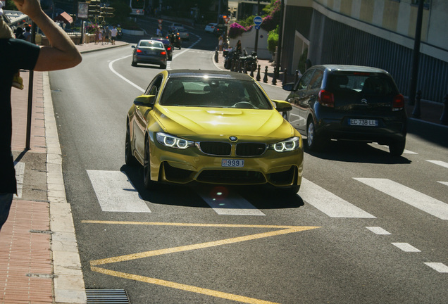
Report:
[{"label": "black Citro\u00ebn hatchback seen from behind, right of the yellow BMW", "polygon": [[290,119],[311,151],[330,139],[378,142],[400,156],[406,144],[406,111],[392,76],[358,65],[315,65],[285,84],[287,101],[299,109]]}]

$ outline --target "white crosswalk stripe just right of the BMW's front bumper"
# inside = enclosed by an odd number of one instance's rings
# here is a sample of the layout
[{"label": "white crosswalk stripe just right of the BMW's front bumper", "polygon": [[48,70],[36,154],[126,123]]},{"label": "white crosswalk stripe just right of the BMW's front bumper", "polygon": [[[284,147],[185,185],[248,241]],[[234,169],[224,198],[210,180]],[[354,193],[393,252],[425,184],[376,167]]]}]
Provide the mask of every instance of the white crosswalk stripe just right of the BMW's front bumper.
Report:
[{"label": "white crosswalk stripe just right of the BMW's front bumper", "polygon": [[299,196],[306,203],[313,205],[314,208],[321,210],[329,217],[376,218],[370,213],[366,213],[361,208],[352,205],[339,196],[335,196],[330,191],[304,178],[301,179]]}]

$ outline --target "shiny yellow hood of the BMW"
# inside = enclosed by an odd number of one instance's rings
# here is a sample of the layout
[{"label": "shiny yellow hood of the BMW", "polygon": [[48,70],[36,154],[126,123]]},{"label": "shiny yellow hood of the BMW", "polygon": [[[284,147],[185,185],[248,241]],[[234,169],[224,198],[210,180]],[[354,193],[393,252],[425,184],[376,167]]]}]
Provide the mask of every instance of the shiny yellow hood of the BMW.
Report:
[{"label": "shiny yellow hood of the BMW", "polygon": [[[173,135],[195,140],[223,135],[286,139],[294,128],[277,110],[241,108],[156,107],[161,127]],[[297,134],[296,134],[297,136]]]}]

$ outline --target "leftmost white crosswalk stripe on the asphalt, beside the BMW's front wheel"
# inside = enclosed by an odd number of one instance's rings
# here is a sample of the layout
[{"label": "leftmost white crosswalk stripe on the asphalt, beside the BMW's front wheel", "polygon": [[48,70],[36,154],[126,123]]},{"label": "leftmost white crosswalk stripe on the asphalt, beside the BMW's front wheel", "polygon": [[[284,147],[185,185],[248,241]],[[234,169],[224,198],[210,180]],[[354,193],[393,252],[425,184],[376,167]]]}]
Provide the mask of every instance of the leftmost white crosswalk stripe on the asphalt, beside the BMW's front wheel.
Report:
[{"label": "leftmost white crosswalk stripe on the asphalt, beside the BMW's front wheel", "polygon": [[101,210],[106,212],[150,213],[125,173],[120,171],[87,170],[97,194]]}]

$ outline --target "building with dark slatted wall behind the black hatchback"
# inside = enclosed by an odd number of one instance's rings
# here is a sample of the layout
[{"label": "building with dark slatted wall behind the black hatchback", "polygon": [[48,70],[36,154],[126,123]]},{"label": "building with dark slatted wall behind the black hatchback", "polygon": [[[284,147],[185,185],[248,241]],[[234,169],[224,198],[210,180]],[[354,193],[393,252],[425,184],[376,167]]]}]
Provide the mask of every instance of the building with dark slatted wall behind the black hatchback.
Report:
[{"label": "building with dark slatted wall behind the black hatchback", "polygon": [[[281,68],[297,70],[304,52],[313,65],[370,65],[409,96],[418,0],[283,1]],[[448,1],[425,0],[416,89],[429,101],[448,94],[447,20]]]}]

